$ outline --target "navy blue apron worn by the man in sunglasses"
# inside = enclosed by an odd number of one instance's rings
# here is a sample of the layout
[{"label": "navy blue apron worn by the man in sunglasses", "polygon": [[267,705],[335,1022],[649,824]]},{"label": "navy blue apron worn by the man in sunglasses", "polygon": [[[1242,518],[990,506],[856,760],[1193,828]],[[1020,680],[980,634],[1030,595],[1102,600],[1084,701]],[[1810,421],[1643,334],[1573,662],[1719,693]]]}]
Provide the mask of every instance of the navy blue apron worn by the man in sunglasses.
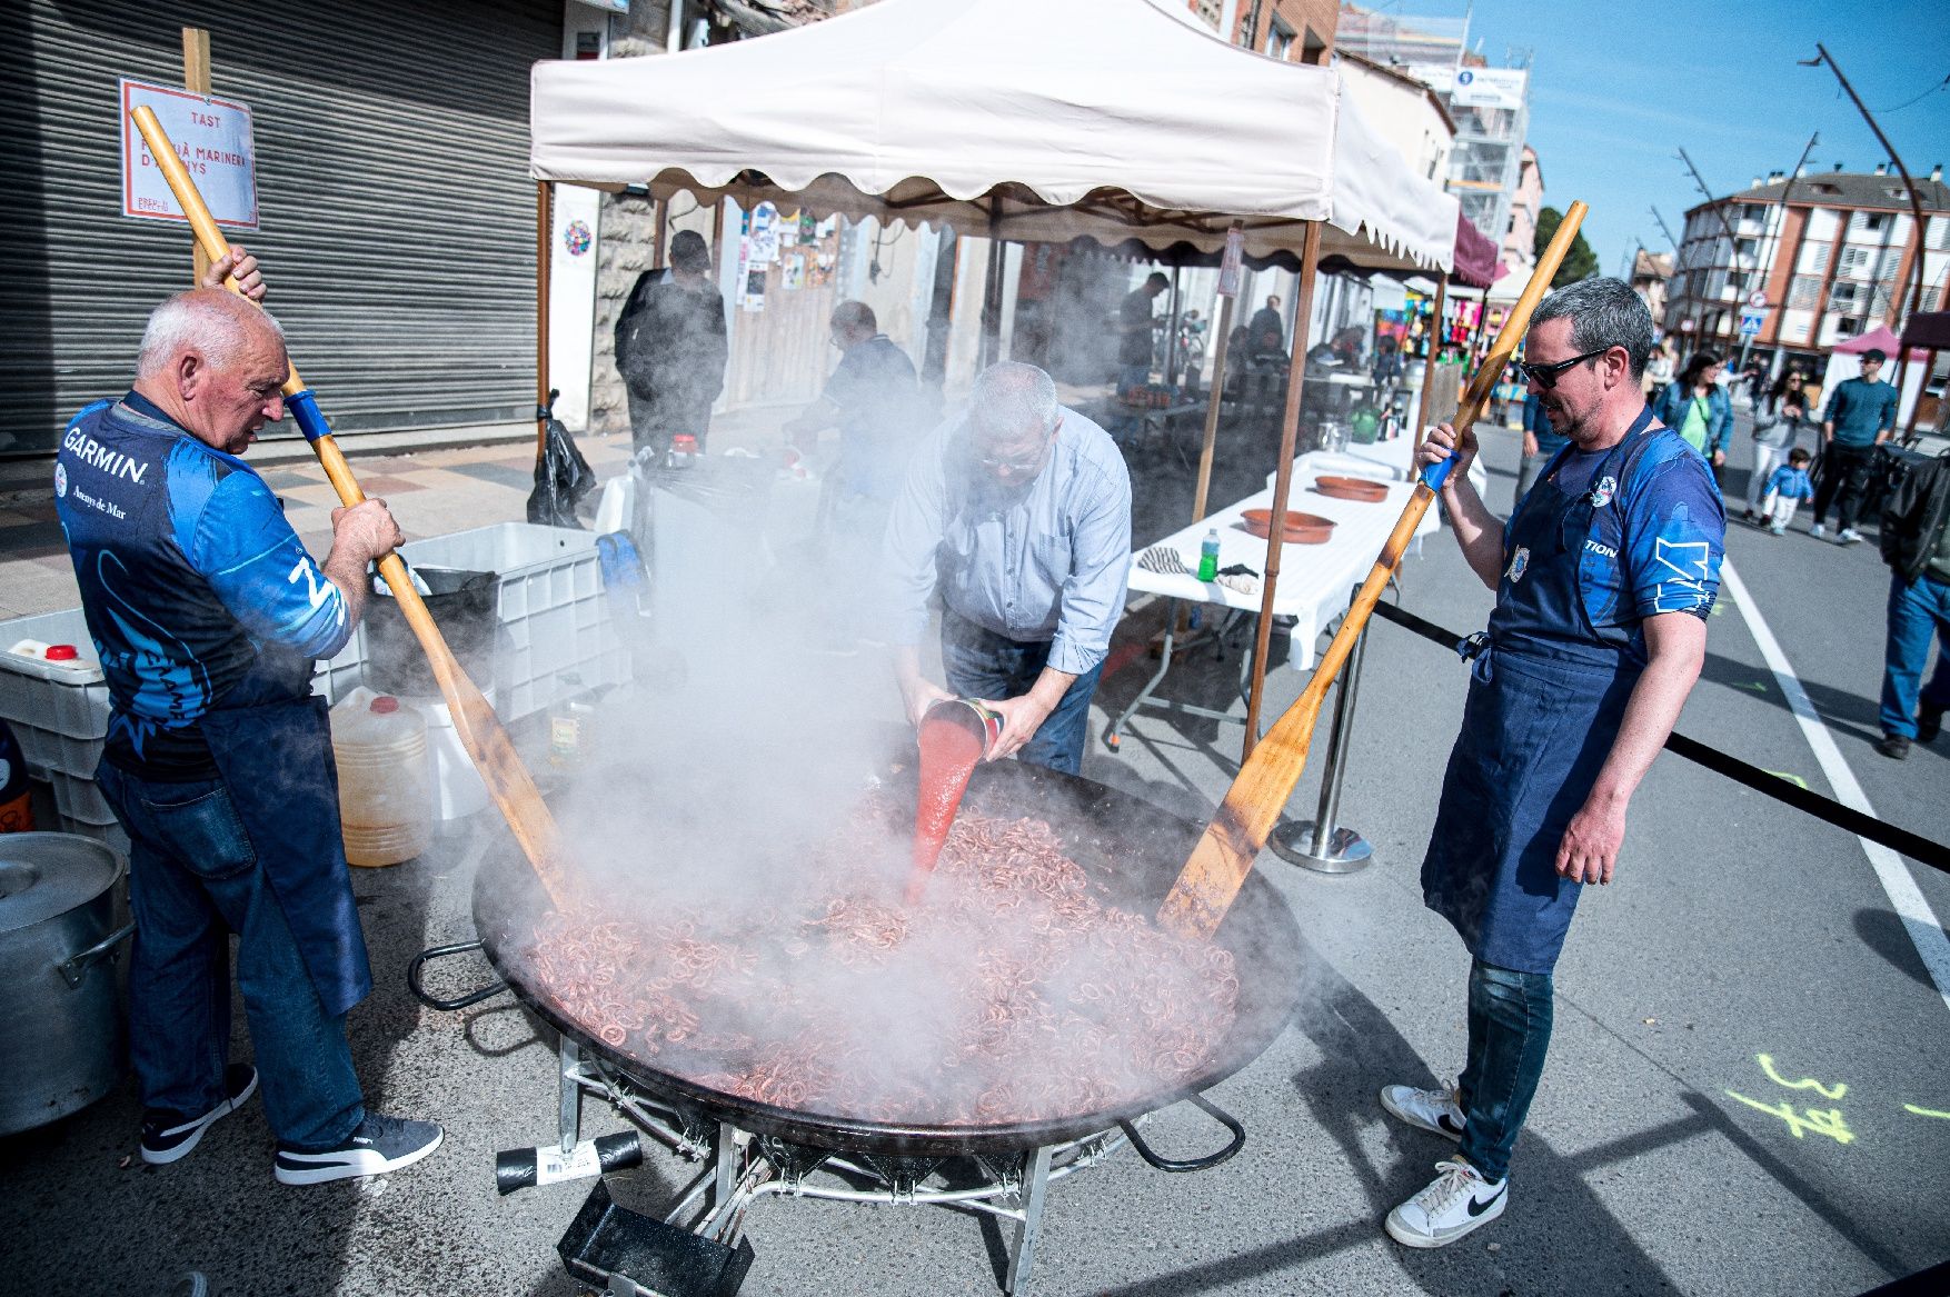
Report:
[{"label": "navy blue apron worn by the man in sunglasses", "polygon": [[[1585,490],[1558,486],[1558,452],[1503,531],[1490,644],[1470,665],[1422,895],[1484,963],[1548,973],[1580,884],[1556,872],[1564,829],[1611,755],[1644,669],[1632,626],[1595,626],[1580,570],[1618,562],[1618,482],[1652,437],[1644,412]],[[1607,544],[1609,540],[1609,544]]]}]

